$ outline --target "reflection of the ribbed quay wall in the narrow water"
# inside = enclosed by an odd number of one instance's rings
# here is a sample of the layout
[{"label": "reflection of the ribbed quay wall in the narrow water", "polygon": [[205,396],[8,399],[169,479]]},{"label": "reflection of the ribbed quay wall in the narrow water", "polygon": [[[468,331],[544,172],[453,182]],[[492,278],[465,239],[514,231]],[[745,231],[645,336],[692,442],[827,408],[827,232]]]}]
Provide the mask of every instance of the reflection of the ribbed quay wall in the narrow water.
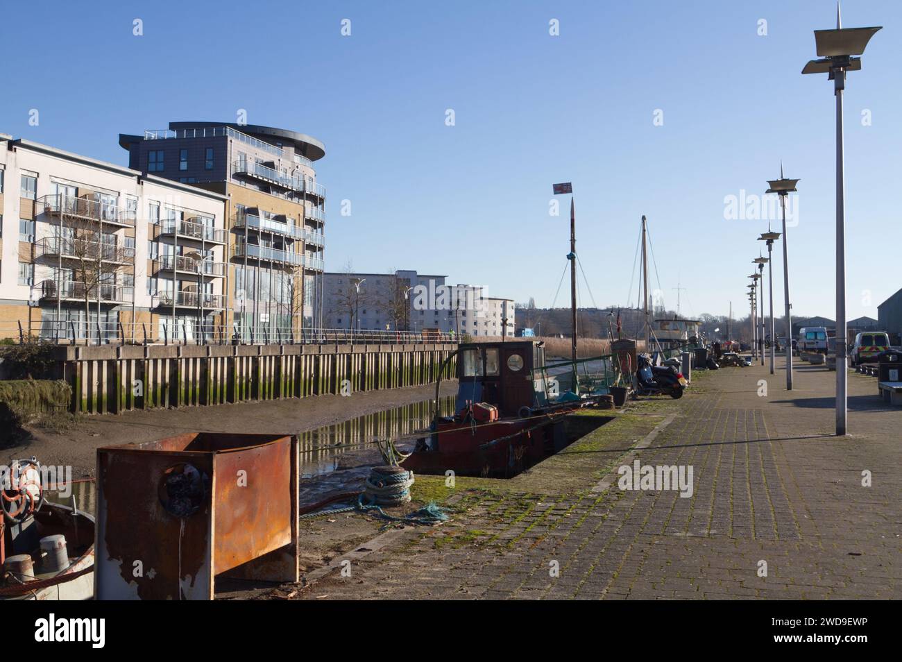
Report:
[{"label": "reflection of the ribbed quay wall in the narrow water", "polygon": [[[454,413],[456,397],[438,400],[438,414]],[[395,409],[385,409],[342,423],[299,433],[300,474],[310,478],[336,470],[341,455],[375,448],[376,439],[412,437],[432,423],[433,400],[421,400]]]}]

